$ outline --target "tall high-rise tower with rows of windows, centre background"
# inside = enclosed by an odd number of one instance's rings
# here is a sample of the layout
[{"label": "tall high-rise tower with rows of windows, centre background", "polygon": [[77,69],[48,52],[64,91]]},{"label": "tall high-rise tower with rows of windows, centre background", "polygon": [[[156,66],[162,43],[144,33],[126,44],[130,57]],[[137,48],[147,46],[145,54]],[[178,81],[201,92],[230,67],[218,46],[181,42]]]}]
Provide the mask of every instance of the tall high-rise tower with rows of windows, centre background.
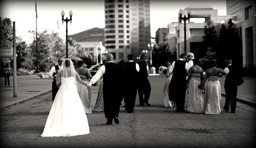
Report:
[{"label": "tall high-rise tower with rows of windows, centre background", "polygon": [[142,54],[151,43],[150,0],[105,0],[104,35],[104,46],[117,61]]}]

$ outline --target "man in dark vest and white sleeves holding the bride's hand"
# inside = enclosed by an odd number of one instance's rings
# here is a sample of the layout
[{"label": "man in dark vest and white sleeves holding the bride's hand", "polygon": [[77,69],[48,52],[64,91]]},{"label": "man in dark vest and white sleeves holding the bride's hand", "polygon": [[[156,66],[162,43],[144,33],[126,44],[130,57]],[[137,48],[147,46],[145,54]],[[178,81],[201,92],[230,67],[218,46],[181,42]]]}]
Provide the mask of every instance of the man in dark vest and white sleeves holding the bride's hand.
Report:
[{"label": "man in dark vest and white sleeves holding the bride's hand", "polygon": [[107,118],[106,124],[112,124],[112,120],[119,124],[118,114],[120,111],[120,98],[118,96],[118,82],[120,79],[118,66],[113,62],[113,55],[108,53],[106,55],[107,63],[102,65],[96,74],[91,78],[89,86],[94,84],[103,76],[103,105],[104,114]]}]

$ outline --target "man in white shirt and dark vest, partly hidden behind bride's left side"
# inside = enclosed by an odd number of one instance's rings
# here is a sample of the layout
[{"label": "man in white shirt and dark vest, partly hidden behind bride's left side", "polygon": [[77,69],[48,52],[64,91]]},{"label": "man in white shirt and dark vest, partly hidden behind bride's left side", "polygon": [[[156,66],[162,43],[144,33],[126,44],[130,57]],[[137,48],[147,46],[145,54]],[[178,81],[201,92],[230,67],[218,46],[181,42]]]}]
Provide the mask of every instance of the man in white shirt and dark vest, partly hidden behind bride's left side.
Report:
[{"label": "man in white shirt and dark vest, partly hidden behind bride's left side", "polygon": [[52,100],[53,101],[54,101],[55,96],[59,90],[59,87],[57,86],[57,83],[56,83],[56,77],[57,77],[58,71],[61,69],[62,62],[63,62],[63,58],[59,58],[58,64],[53,66],[51,68],[51,70],[49,71],[49,75],[53,78],[53,81],[52,81]]}]

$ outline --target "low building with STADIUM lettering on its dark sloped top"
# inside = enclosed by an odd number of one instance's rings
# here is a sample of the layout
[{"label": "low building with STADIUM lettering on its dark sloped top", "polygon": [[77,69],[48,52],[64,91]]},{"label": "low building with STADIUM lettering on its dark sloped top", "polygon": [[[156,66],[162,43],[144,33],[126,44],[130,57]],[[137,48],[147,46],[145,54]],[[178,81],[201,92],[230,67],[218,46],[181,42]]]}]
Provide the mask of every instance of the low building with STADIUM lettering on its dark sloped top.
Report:
[{"label": "low building with STADIUM lettering on its dark sloped top", "polygon": [[85,47],[85,52],[90,54],[92,56],[92,60],[96,62],[97,54],[100,54],[100,49],[98,48],[100,41],[104,43],[104,29],[94,27],[73,35],[68,35],[68,38],[74,39]]}]

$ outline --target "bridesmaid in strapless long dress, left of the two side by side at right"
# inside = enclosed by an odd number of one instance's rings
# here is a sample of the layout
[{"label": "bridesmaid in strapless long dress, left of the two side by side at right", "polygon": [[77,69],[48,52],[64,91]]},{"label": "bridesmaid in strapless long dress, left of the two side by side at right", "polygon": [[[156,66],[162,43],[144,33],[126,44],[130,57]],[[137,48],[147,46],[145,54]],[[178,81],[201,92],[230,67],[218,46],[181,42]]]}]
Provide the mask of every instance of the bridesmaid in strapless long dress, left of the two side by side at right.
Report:
[{"label": "bridesmaid in strapless long dress, left of the two side by side at right", "polygon": [[198,85],[203,79],[203,69],[198,66],[198,59],[192,59],[194,65],[189,68],[188,77],[189,88],[188,88],[188,112],[203,113],[203,98],[200,93]]}]

